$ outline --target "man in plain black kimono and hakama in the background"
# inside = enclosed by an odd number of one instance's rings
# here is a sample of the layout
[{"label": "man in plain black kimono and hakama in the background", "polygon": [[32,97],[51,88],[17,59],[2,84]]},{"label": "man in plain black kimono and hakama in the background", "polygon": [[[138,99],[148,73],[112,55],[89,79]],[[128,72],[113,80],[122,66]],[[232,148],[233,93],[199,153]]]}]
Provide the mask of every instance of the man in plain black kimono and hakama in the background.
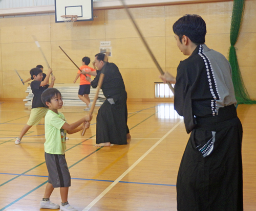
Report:
[{"label": "man in plain black kimono and hakama in the background", "polygon": [[[105,54],[95,55],[94,65],[97,67],[97,76],[91,82],[96,88],[100,74],[104,74],[101,89],[106,97],[97,115],[96,146],[105,147],[111,144],[127,144],[127,138],[131,138],[127,126],[127,93],[122,75],[114,63],[107,62]],[[105,59],[104,59],[105,58]]]}]

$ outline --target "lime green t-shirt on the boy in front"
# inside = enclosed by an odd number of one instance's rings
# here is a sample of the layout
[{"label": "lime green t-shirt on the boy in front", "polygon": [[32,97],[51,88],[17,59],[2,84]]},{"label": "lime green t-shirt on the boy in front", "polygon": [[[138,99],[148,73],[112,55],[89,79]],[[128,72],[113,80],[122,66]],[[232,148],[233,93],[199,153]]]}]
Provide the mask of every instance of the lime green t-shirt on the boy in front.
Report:
[{"label": "lime green t-shirt on the boy in front", "polygon": [[63,155],[66,150],[67,131],[61,127],[66,122],[65,116],[58,112],[48,110],[45,116],[45,152],[49,154]]}]

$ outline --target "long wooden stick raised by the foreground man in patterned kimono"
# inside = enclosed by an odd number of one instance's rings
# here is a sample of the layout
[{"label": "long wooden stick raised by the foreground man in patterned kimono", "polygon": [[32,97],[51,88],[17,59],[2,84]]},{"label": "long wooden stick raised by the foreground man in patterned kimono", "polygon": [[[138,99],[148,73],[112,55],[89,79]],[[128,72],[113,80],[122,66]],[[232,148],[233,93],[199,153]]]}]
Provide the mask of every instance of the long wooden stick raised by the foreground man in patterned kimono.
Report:
[{"label": "long wooden stick raised by the foreground man in patterned kimono", "polygon": [[[160,74],[161,74],[161,75],[164,75],[164,72],[163,72],[162,68],[160,67],[159,63],[157,62],[157,60],[156,60],[156,58],[155,58],[155,56],[154,56],[154,54],[152,53],[150,47],[148,46],[146,40],[144,39],[143,35],[141,34],[141,32],[140,32],[140,30],[139,30],[139,27],[137,26],[137,24],[136,24],[136,22],[135,22],[135,20],[134,20],[134,18],[133,18],[132,13],[130,12],[129,8],[125,5],[124,0],[120,0],[120,1],[122,2],[122,5],[123,5],[124,9],[126,10],[127,14],[128,14],[129,17],[131,18],[131,20],[132,20],[132,22],[133,22],[133,24],[134,24],[134,27],[136,28],[137,32],[139,33],[140,38],[141,38],[143,44],[145,45],[145,47],[146,47],[148,53],[150,54],[151,58],[152,58],[153,61],[155,62],[155,64],[156,64],[156,66],[157,66],[157,68],[158,68]],[[172,86],[172,84],[170,84],[169,82],[167,82],[167,84],[168,84],[170,90],[172,90],[172,92],[174,93],[174,87]]]}]

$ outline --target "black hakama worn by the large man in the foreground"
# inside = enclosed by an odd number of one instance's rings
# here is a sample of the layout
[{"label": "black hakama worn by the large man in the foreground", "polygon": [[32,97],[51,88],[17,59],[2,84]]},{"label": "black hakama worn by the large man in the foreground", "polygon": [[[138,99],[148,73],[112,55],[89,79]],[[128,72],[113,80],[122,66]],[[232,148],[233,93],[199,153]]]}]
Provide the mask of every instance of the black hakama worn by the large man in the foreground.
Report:
[{"label": "black hakama worn by the large man in the foreground", "polygon": [[[224,121],[197,120],[202,125],[191,132],[178,173],[178,211],[243,210],[242,125],[234,116]],[[212,141],[208,136],[212,131],[214,148],[203,157],[197,146]]]}]

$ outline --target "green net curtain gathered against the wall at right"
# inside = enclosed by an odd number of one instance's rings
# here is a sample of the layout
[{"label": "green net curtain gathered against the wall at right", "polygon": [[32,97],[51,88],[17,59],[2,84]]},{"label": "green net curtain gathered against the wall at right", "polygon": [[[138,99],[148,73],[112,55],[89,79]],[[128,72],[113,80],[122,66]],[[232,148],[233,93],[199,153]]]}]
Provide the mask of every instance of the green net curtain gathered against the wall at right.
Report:
[{"label": "green net curtain gathered against the wall at right", "polygon": [[245,0],[234,0],[233,2],[233,12],[231,19],[231,29],[230,29],[230,49],[229,49],[229,63],[232,68],[232,80],[234,84],[234,92],[236,94],[236,99],[238,104],[254,104],[256,101],[250,100],[248,92],[243,83],[240,68],[238,65],[237,53],[234,44],[236,44],[240,26],[242,22],[243,12],[244,12]]}]

